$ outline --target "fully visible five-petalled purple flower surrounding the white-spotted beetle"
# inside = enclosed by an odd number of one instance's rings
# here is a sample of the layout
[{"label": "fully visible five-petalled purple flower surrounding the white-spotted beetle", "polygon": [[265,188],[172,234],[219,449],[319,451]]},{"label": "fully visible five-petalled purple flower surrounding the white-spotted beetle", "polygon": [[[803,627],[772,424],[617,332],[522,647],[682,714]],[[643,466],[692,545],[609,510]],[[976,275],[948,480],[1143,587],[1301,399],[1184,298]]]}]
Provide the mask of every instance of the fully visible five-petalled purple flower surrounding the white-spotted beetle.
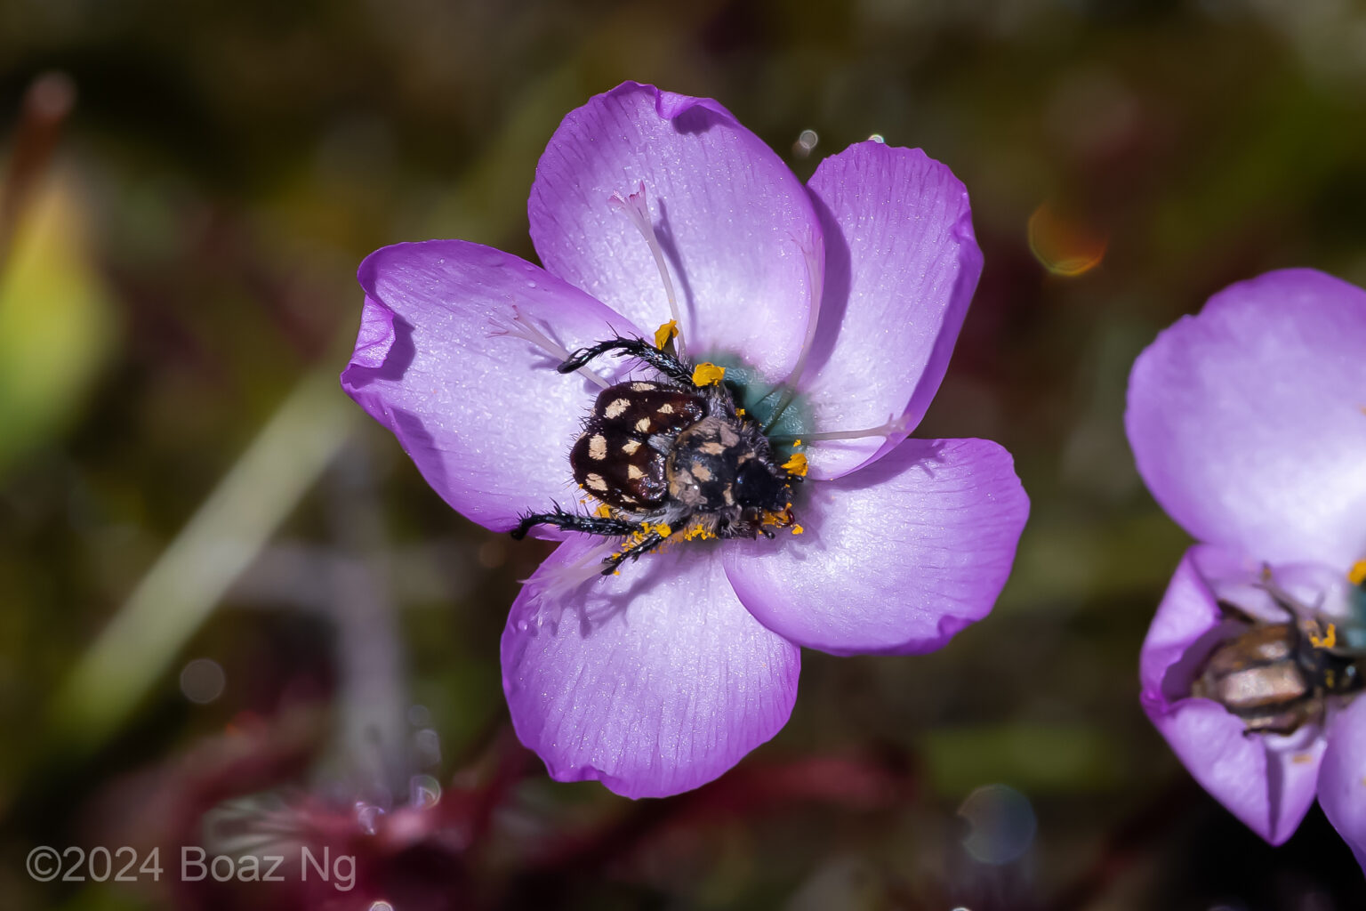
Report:
[{"label": "fully visible five-petalled purple flower surrounding the white-spotted beetle", "polygon": [[447,503],[496,531],[553,503],[591,515],[568,459],[583,419],[602,387],[658,374],[556,366],[616,337],[669,347],[669,321],[688,362],[727,369],[735,419],[772,423],[775,464],[809,468],[776,539],[679,529],[619,575],[597,575],[619,538],[541,526],[563,544],[512,605],[503,683],[555,779],[695,788],[787,721],[799,646],[929,651],[990,611],[1029,511],[1011,458],[906,438],[982,265],[948,168],[863,142],[803,187],[716,101],[624,83],[560,124],[529,216],[544,269],[459,240],[361,265],[343,387]]}]

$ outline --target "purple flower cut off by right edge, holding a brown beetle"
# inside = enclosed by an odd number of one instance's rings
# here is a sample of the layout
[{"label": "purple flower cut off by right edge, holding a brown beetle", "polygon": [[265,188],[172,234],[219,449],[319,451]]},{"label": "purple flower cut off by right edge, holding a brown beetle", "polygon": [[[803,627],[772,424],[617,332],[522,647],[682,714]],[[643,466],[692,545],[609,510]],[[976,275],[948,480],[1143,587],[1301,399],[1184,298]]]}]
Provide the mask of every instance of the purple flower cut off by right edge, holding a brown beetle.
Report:
[{"label": "purple flower cut off by right edge, holding a brown beetle", "polygon": [[1315,795],[1366,865],[1366,292],[1309,269],[1210,298],[1134,365],[1138,470],[1201,544],[1143,643],[1143,707],[1272,844]]}]

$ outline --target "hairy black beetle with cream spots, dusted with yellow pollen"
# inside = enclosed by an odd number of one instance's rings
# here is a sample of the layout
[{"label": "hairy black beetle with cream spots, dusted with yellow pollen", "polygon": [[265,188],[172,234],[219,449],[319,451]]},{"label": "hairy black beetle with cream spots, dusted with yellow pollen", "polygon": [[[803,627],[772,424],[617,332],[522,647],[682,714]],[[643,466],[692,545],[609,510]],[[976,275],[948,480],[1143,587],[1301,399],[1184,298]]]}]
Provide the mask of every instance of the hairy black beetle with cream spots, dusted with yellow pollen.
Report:
[{"label": "hairy black beetle with cream spots, dusted with yellow pollen", "polygon": [[575,351],[559,367],[572,373],[613,352],[654,367],[661,380],[632,380],[598,393],[570,452],[574,479],[602,507],[594,515],[522,516],[514,538],[534,526],[623,537],[604,560],[611,575],[679,530],[687,538],[772,538],[792,524],[792,485],[800,474],[777,464],[759,426],[721,384],[694,381],[687,363],[643,339],[608,339]]}]

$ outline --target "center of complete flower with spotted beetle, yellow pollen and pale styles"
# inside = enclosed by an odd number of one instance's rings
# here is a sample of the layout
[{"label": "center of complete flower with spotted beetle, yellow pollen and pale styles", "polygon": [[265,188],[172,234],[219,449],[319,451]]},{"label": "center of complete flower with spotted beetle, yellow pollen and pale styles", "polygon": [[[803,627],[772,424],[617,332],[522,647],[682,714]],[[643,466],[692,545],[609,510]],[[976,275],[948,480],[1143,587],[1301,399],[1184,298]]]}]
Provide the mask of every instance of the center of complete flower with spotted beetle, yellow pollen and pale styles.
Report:
[{"label": "center of complete flower with spotted beetle, yellow pollen and pale styles", "polygon": [[[601,388],[570,452],[586,509],[552,504],[550,511],[525,514],[512,535],[520,538],[534,526],[549,524],[615,539],[611,555],[600,563],[607,575],[678,541],[775,538],[783,529],[802,534],[805,529],[792,512],[794,493],[810,470],[802,448],[821,440],[904,432],[895,415],[861,430],[816,432],[810,426],[810,408],[798,389],[820,322],[822,266],[816,238],[792,238],[806,264],[809,318],[792,370],[773,385],[728,354],[710,361],[686,356],[686,326],[645,184],[635,193],[613,193],[608,204],[626,214],[649,247],[671,318],[654,331],[653,344],[641,337],[612,337],[574,352],[549,326],[533,324],[515,306],[511,318],[494,321],[493,335],[527,341],[552,355],[560,373],[582,373]],[[608,354],[632,358],[660,378],[609,382],[591,369]]]}]

